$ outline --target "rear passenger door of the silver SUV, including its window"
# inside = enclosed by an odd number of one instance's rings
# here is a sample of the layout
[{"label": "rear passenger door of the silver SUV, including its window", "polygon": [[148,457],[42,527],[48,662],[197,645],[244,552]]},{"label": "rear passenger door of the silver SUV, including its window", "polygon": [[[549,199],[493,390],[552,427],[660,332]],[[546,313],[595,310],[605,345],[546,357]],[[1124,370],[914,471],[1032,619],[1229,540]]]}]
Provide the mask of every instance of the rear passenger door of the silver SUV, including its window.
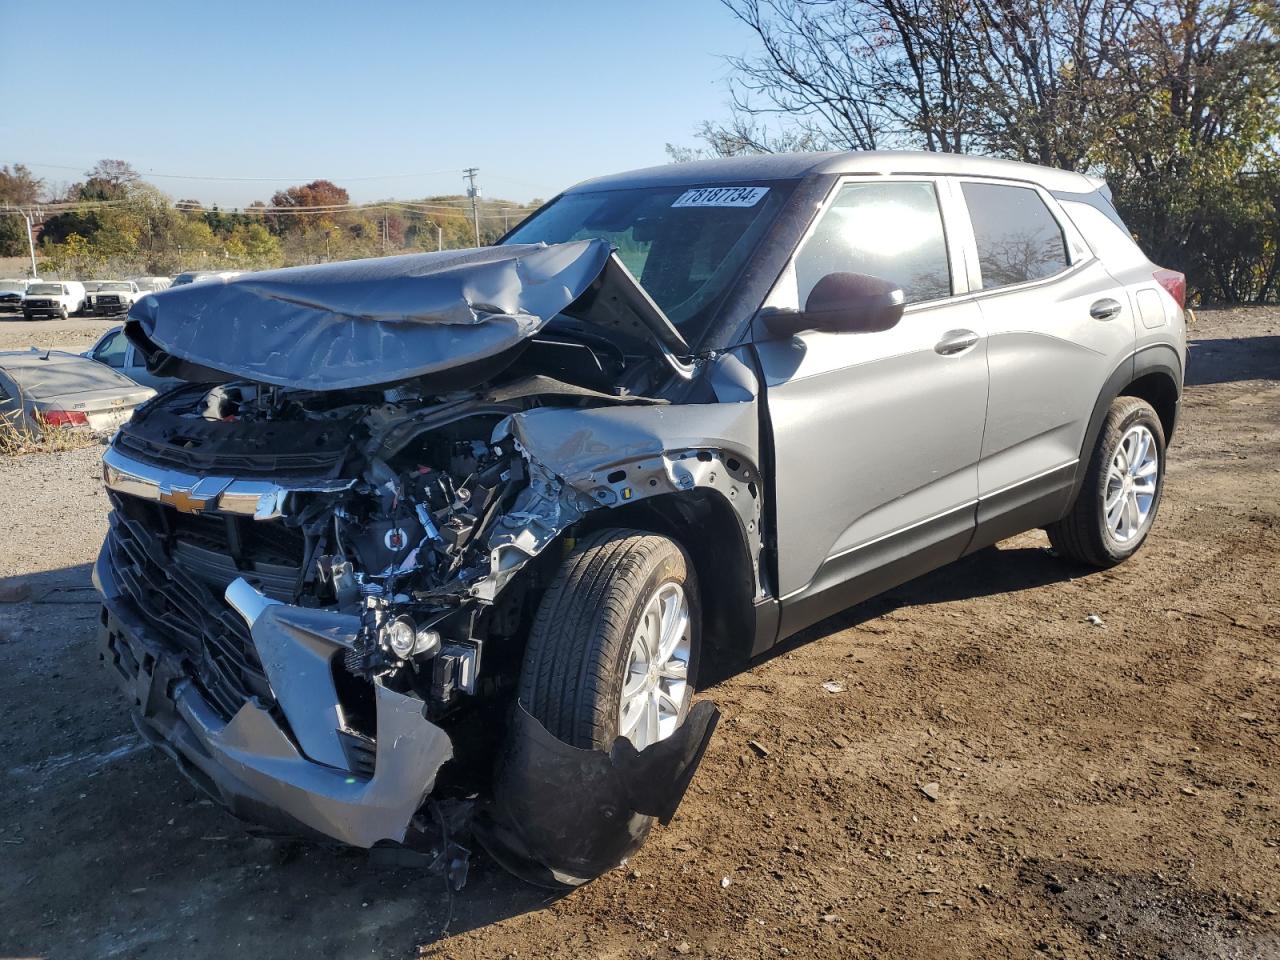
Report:
[{"label": "rear passenger door of the silver SUV, including its window", "polygon": [[977,545],[1065,511],[1098,396],[1132,357],[1134,317],[1124,288],[1046,191],[957,184],[991,367]]}]

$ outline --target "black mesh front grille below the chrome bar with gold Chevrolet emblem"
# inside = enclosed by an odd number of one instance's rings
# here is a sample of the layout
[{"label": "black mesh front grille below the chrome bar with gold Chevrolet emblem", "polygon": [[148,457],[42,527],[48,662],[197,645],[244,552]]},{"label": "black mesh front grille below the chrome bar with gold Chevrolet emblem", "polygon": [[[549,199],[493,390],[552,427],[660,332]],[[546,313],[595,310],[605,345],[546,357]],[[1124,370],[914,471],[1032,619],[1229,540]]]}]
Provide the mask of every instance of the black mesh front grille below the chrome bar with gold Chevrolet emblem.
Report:
[{"label": "black mesh front grille below the chrome bar with gold Chevrolet emblem", "polygon": [[251,698],[270,707],[257,649],[223,591],[243,576],[268,595],[288,599],[301,567],[301,536],[255,530],[274,525],[242,517],[183,515],[118,494],[111,500],[111,566],[138,612],[184,655],[223,719]]}]

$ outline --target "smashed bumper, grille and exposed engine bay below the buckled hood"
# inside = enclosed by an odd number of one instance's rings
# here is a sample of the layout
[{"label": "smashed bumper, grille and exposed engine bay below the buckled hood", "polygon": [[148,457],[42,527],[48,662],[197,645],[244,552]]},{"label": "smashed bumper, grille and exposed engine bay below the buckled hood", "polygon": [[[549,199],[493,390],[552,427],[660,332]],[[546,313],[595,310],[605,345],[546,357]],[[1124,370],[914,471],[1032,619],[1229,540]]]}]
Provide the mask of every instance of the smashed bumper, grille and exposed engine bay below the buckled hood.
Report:
[{"label": "smashed bumper, grille and exposed engine bay below the buckled hood", "polygon": [[232,383],[140,410],[104,456],[95,582],[143,735],[248,819],[403,841],[444,727],[503,694],[480,667],[516,649],[525,598],[476,599],[509,572],[495,548],[572,511],[490,442],[521,406]]}]

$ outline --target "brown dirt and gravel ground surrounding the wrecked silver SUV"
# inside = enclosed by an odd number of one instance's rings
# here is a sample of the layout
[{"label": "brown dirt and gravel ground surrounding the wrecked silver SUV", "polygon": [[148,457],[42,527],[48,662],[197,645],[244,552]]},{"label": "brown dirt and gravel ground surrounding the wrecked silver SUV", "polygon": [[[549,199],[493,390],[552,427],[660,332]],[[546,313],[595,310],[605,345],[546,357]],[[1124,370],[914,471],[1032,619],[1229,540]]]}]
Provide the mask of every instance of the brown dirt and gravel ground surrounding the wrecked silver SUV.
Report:
[{"label": "brown dirt and gravel ground surrounding the wrecked silver SUV", "polygon": [[247,836],[97,663],[97,451],[0,462],[0,956],[1280,957],[1280,310],[1192,337],[1133,561],[1025,534],[704,690],[676,819],[567,896]]}]

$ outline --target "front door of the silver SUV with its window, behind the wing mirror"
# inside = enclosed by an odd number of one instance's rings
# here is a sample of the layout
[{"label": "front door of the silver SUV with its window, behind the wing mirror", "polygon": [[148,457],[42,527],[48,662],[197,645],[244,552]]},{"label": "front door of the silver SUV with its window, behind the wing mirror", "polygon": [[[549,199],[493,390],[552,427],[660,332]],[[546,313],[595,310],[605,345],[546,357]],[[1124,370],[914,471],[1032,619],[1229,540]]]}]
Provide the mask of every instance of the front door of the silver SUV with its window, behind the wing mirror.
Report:
[{"label": "front door of the silver SUV with its window, behind the wing mirror", "polygon": [[987,357],[943,229],[954,202],[936,178],[847,178],[767,301],[799,308],[841,271],[908,300],[879,333],[758,332],[783,634],[954,559],[973,531]]}]

